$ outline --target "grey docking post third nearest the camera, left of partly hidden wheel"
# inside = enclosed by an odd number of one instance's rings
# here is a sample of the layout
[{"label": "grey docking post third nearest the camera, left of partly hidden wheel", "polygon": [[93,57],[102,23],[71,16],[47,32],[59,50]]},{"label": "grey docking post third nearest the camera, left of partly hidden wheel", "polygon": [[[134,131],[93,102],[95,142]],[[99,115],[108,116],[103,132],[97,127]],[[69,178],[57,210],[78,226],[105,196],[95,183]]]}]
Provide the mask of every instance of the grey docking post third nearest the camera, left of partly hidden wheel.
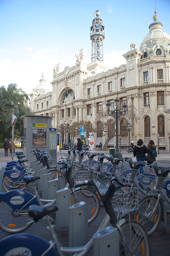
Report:
[{"label": "grey docking post third nearest the camera, left of partly hidden wheel", "polygon": [[56,206],[59,210],[56,211],[56,231],[69,230],[69,207],[71,205],[71,190],[70,188],[62,188],[56,191]]}]

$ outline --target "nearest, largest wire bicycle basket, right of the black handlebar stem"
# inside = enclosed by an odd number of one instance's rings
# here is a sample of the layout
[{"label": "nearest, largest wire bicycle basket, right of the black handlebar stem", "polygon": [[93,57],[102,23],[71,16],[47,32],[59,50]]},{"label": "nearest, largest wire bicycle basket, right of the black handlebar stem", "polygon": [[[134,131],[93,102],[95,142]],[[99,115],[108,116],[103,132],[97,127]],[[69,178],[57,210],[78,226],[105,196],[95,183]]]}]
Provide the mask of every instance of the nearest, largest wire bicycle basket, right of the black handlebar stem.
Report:
[{"label": "nearest, largest wire bicycle basket, right of the black handlebar stem", "polygon": [[115,210],[121,214],[136,210],[138,205],[138,188],[122,187],[119,191],[115,192],[113,197],[113,206]]}]

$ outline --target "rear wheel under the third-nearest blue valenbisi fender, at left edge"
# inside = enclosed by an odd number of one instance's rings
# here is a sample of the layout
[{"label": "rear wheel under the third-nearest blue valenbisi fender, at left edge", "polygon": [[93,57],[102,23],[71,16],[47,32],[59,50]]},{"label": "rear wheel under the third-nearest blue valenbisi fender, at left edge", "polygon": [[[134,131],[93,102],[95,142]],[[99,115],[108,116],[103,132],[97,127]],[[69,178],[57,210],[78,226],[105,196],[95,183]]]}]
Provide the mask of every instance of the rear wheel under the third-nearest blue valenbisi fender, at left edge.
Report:
[{"label": "rear wheel under the third-nearest blue valenbisi fender, at left edge", "polygon": [[13,182],[12,179],[10,179],[8,176],[4,175],[3,180],[2,180],[2,186],[3,189],[8,192],[13,189],[22,189],[26,187],[26,183],[22,182]]}]

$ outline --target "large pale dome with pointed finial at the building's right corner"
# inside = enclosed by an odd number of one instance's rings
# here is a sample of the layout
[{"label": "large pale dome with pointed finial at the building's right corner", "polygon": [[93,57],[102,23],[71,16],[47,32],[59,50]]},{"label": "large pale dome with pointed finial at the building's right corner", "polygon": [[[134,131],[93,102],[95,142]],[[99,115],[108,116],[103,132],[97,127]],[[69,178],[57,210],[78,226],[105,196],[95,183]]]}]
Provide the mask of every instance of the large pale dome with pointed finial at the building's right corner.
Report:
[{"label": "large pale dome with pointed finial at the building's right corner", "polygon": [[[149,25],[149,34],[144,37],[141,45],[140,51],[144,52],[143,47],[148,47],[149,49],[153,49],[153,47],[158,43],[163,46],[163,48],[168,48],[170,45],[170,35],[162,30],[162,22],[157,22],[158,15],[156,14],[155,8],[155,15],[153,16],[153,20],[155,22]],[[160,46],[159,45],[159,46]],[[160,47],[158,47],[160,48]]]}]

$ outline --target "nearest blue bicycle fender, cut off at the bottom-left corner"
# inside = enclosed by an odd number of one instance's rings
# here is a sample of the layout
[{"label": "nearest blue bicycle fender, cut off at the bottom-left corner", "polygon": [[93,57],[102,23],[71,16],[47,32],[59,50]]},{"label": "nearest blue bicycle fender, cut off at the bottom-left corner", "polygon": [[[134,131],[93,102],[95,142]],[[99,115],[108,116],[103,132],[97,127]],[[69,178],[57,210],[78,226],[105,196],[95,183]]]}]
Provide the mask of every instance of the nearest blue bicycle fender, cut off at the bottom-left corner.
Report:
[{"label": "nearest blue bicycle fender, cut off at the bottom-left corner", "polygon": [[[51,243],[45,239],[27,233],[13,234],[0,241],[1,255],[41,256],[50,245]],[[58,254],[52,247],[46,256],[58,256]]]}]

